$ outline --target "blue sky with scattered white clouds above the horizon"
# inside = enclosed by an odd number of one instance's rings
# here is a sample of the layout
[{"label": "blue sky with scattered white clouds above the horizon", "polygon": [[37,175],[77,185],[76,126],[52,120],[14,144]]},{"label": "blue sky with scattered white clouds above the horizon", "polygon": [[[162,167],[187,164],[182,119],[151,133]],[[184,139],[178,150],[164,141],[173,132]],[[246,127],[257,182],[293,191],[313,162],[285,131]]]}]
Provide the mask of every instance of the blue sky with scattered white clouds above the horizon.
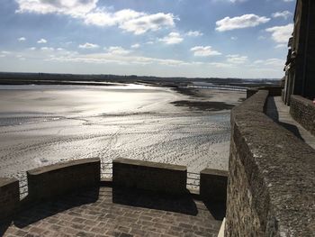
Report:
[{"label": "blue sky with scattered white clouds above the horizon", "polygon": [[295,0],[1,0],[0,71],[284,76]]}]

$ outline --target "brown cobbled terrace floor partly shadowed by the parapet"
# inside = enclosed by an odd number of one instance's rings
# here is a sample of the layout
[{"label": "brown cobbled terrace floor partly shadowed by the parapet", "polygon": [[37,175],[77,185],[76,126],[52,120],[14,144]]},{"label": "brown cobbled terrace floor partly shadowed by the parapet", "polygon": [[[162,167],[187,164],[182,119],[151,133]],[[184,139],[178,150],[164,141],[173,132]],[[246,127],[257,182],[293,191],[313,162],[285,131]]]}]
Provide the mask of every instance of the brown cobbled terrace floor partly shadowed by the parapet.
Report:
[{"label": "brown cobbled terrace floor partly shadowed by the parapet", "polygon": [[217,236],[222,218],[217,207],[188,195],[100,187],[32,206],[3,224],[0,236]]}]

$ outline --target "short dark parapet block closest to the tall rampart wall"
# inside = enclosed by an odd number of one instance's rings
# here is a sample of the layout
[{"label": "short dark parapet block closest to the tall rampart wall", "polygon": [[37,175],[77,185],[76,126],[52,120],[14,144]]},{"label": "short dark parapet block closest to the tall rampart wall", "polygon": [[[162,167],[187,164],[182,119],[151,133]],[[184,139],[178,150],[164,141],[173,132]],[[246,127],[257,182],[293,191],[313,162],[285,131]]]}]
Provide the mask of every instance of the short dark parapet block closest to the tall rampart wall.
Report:
[{"label": "short dark parapet block closest to the tall rampart wall", "polygon": [[228,172],[203,169],[200,172],[200,196],[206,201],[227,201]]}]

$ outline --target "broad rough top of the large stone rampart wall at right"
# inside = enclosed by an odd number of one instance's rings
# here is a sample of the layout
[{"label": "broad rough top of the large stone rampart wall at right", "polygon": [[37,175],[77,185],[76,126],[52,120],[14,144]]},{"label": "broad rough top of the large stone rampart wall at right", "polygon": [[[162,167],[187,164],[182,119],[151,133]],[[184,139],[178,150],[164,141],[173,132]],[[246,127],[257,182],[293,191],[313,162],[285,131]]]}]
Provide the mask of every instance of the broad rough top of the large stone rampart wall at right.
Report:
[{"label": "broad rough top of the large stone rampart wall at right", "polygon": [[264,114],[267,96],[267,91],[260,90],[231,111],[238,159],[245,167],[262,231],[311,236],[315,232],[315,150]]}]

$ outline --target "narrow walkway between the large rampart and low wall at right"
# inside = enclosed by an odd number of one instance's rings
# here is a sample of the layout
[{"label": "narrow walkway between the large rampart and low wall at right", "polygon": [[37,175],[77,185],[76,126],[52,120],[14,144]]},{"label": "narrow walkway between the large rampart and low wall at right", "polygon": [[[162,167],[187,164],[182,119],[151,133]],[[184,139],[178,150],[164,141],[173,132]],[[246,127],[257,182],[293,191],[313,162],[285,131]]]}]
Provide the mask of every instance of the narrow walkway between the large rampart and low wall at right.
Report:
[{"label": "narrow walkway between the large rampart and low wall at right", "polygon": [[290,107],[284,105],[281,96],[269,97],[266,114],[285,129],[293,132],[298,138],[315,149],[315,136],[305,130],[290,115]]}]

